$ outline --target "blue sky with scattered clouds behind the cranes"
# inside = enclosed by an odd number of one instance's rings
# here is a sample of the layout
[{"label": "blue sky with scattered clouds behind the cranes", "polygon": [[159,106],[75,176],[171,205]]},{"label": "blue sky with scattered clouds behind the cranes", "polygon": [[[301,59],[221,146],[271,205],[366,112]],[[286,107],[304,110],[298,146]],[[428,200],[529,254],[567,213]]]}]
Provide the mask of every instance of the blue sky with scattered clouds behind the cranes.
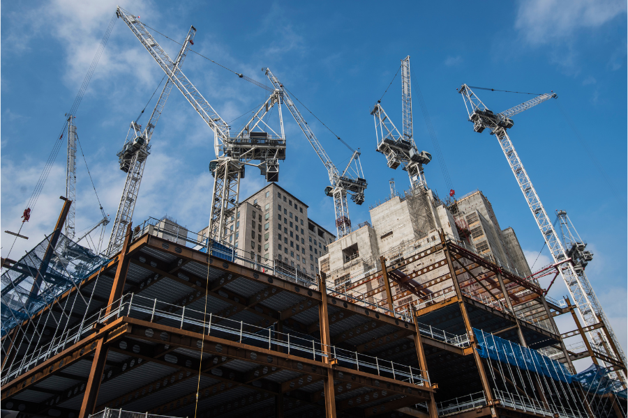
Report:
[{"label": "blue sky with scattered clouds behind the cranes", "polygon": [[[1,221],[17,231],[20,215],[82,83],[116,2],[77,0],[1,3]],[[324,123],[355,148],[368,180],[366,202],[351,203],[352,222],[368,220],[368,206],[388,193],[388,180],[408,187],[404,171],[386,167],[375,152],[369,111],[384,93],[400,60],[411,56],[414,138],[435,156],[416,97],[421,91],[456,194],[481,189],[502,228],[512,226],[532,261],[543,240],[497,141],[476,134],[467,121],[462,83],[535,93],[555,91],[558,100],[514,117],[518,153],[551,212],[567,210],[595,259],[588,273],[615,332],[626,348],[627,106],[626,4],[621,0],[463,2],[223,2],[133,1],[121,4],[150,26],[182,40],[197,29],[193,49],[228,68],[269,84],[274,74]],[[179,47],[155,34],[171,56]],[[266,91],[223,68],[188,54],[184,72],[225,121],[264,100]],[[115,154],[128,123],[163,77],[128,27],[115,24],[89,89],[77,112],[77,130],[105,211],[114,216],[124,185]],[[530,96],[477,91],[494,111]],[[401,127],[401,80],[382,105]],[[151,106],[154,105],[151,104]],[[571,129],[565,114],[574,121]],[[149,109],[151,109],[149,106]],[[146,123],[149,116],[142,117]],[[336,165],[350,152],[301,109]],[[310,206],[310,216],[335,230],[331,199],[323,194],[327,173],[285,111],[287,160],[280,184]],[[238,126],[240,120],[233,123]],[[207,225],[214,157],[207,125],[173,90],[152,138],[134,221],[167,213],[198,231]],[[596,164],[597,162],[597,164]],[[602,167],[606,178],[597,167]],[[84,163],[77,163],[77,230],[100,215]],[[29,241],[18,240],[17,258],[50,231],[64,194],[61,150],[31,222]],[[449,191],[437,161],[426,167],[428,185]],[[264,185],[251,169],[241,187],[246,196]],[[107,230],[107,239],[109,231]],[[2,255],[13,238],[1,234]],[[547,264],[541,254],[535,268]],[[562,284],[555,296],[565,295]],[[567,325],[567,327],[572,325]]]}]

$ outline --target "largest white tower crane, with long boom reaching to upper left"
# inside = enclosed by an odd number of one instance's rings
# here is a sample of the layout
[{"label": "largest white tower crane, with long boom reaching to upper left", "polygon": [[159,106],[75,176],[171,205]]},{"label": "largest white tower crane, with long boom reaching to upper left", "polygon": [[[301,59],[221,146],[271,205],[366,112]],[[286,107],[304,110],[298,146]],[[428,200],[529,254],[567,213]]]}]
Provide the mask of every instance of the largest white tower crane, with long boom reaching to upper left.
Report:
[{"label": "largest white tower crane, with long boom reaching to upper left", "polygon": [[[137,37],[149,54],[153,56],[168,79],[185,96],[210,129],[214,132],[214,151],[216,160],[212,160],[209,169],[214,176],[214,193],[211,201],[209,220],[209,238],[215,242],[227,242],[234,234],[228,228],[229,222],[237,218],[239,185],[244,178],[246,165],[257,167],[267,181],[276,181],[279,176],[278,160],[285,160],[285,134],[281,116],[281,97],[276,90],[257,110],[237,136],[230,135],[230,127],[211,107],[188,77],[181,71],[177,62],[160,47],[151,33],[140,22],[139,17],[117,8],[117,16]],[[247,79],[244,75],[241,78]],[[263,121],[274,104],[279,104],[279,128],[275,132]],[[264,129],[262,129],[262,127]],[[270,131],[270,132],[269,132]],[[257,164],[253,164],[257,161]]]}]

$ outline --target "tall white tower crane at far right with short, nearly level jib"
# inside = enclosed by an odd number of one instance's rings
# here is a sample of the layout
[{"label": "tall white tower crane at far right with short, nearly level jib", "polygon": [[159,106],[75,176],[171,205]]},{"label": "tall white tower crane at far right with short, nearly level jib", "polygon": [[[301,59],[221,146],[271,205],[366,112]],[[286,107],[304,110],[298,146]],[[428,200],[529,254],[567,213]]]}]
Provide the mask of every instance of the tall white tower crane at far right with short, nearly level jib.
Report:
[{"label": "tall white tower crane at far right with short, nearly level jib", "polygon": [[[521,188],[521,192],[523,192],[523,196],[525,196],[525,201],[528,202],[534,220],[537,222],[537,226],[539,226],[541,230],[546,245],[551,251],[554,263],[560,263],[561,261],[570,259],[569,263],[562,263],[564,267],[560,268],[559,271],[567,285],[569,294],[576,303],[576,309],[578,309],[578,312],[585,322],[585,330],[588,331],[590,340],[595,343],[599,353],[606,353],[609,357],[613,357],[623,364],[625,371],[627,363],[624,352],[585,274],[585,265],[590,261],[592,255],[588,251],[584,251],[582,241],[579,240],[579,237],[578,240],[571,237],[564,241],[559,238],[558,233],[550,222],[547,212],[541,203],[541,199],[539,199],[537,191],[532,185],[528,172],[525,171],[523,163],[507,134],[507,130],[514,124],[511,116],[519,114],[526,109],[530,109],[530,107],[534,107],[537,104],[546,102],[551,98],[558,98],[558,95],[553,92],[538,95],[532,100],[518,104],[499,114],[494,114],[493,111],[488,109],[488,107],[481,102],[467,84],[463,84],[458,92],[461,93],[464,98],[469,120],[473,122],[473,130],[475,132],[482,132],[488,127],[488,129],[491,130],[491,134],[494,134],[498,139],[517,183]],[[567,214],[565,213],[563,216],[561,212],[558,212],[559,218],[567,222],[565,220],[567,219]],[[563,221],[561,221],[561,229],[562,223]],[[569,245],[570,247],[566,247],[565,245]],[[606,332],[594,335],[591,331],[600,326],[603,326]]]}]

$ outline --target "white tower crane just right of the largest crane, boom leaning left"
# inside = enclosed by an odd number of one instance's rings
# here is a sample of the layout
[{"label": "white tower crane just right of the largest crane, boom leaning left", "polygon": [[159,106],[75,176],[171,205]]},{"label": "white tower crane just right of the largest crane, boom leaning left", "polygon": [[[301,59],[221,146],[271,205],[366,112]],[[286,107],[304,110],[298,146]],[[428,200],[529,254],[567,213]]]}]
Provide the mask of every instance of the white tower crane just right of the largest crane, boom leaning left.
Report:
[{"label": "white tower crane just right of the largest crane, boom leaning left", "polygon": [[[364,190],[366,190],[366,180],[364,179],[364,172],[362,171],[362,164],[360,163],[359,149],[352,150],[351,158],[347,164],[347,167],[341,173],[331,158],[325,152],[324,148],[316,138],[310,125],[305,121],[304,117],[299,112],[299,109],[292,102],[292,98],[287,93],[283,84],[279,82],[277,77],[273,75],[269,68],[266,68],[266,75],[281,94],[283,102],[285,103],[290,114],[297,121],[299,127],[305,134],[306,138],[310,142],[312,148],[314,148],[316,154],[327,169],[327,175],[329,176],[330,186],[325,187],[325,194],[334,198],[334,211],[336,213],[336,232],[338,238],[342,238],[351,232],[351,220],[349,217],[349,207],[347,205],[347,194],[351,196],[351,200],[357,205],[364,203]],[[346,144],[345,144],[346,145]],[[347,146],[347,148],[350,148]],[[351,148],[350,148],[351,149]]]}]

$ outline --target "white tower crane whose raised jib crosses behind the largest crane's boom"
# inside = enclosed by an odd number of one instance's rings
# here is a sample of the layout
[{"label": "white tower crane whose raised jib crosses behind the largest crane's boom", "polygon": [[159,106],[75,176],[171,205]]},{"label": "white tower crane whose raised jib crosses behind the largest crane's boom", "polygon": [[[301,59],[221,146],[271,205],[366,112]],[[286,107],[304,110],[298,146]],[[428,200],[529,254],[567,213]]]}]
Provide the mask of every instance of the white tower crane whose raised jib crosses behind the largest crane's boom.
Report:
[{"label": "white tower crane whose raised jib crosses behind the largest crane's boom", "polygon": [[[196,29],[194,26],[190,26],[186,40],[177,55],[177,60],[174,65],[180,66],[184,59],[186,59],[188,45],[194,44],[195,35]],[[168,100],[172,85],[170,79],[167,79],[159,95],[155,109],[153,109],[153,113],[143,131],[142,126],[138,125],[137,121],[130,123],[124,145],[117,153],[120,169],[126,173],[126,181],[124,182],[122,197],[111,230],[111,237],[106,252],[107,256],[111,256],[121,249],[122,243],[124,242],[124,233],[126,233],[126,226],[131,222],[131,219],[133,219],[133,210],[135,210],[137,194],[140,192],[140,183],[142,183],[144,167],[146,166],[147,157],[151,153],[151,137],[155,130],[155,125],[159,120],[159,116],[161,116],[161,112]]]}]

